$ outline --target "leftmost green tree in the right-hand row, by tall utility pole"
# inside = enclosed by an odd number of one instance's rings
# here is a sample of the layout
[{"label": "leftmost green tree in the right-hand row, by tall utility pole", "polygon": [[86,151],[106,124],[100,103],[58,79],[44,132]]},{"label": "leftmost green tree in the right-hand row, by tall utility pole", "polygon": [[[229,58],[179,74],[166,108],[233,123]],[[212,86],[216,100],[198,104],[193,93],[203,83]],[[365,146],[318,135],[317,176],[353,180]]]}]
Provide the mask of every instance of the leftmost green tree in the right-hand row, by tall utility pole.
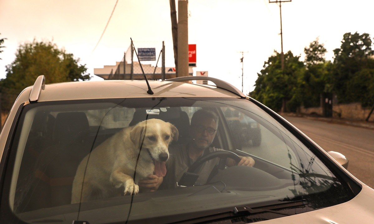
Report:
[{"label": "leftmost green tree in the right-hand row, by tall utility pole", "polygon": [[288,101],[290,111],[295,111],[300,105],[297,93],[297,77],[305,69],[300,56],[294,56],[291,51],[285,53],[285,66],[281,68],[281,54],[275,51],[264,62],[263,69],[257,73],[258,78],[251,96],[264,103],[274,111],[280,111],[283,101]]}]

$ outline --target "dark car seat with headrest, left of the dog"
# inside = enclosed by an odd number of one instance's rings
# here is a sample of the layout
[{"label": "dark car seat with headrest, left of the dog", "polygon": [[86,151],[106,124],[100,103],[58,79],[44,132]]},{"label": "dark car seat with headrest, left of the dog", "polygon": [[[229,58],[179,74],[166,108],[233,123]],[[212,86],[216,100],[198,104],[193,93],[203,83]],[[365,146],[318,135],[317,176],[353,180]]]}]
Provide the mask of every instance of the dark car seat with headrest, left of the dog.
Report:
[{"label": "dark car seat with headrest, left of the dog", "polygon": [[67,205],[77,167],[91,152],[89,124],[84,112],[60,112],[56,115],[51,146],[42,149],[33,167],[33,179],[27,182],[28,196],[18,211]]}]

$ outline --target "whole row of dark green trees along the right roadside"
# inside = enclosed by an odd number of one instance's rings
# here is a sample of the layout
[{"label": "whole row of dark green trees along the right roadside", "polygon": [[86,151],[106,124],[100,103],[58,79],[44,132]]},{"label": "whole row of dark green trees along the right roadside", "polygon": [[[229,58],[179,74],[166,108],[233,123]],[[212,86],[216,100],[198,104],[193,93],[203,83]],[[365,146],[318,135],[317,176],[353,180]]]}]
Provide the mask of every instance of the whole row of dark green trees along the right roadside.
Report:
[{"label": "whole row of dark green trees along the right roadside", "polygon": [[320,106],[321,96],[336,94],[341,103],[374,103],[374,52],[367,33],[343,35],[341,46],[334,50],[334,61],[325,59],[327,50],[318,38],[304,48],[305,60],[286,53],[284,71],[280,54],[275,52],[258,73],[252,97],[280,111],[282,100],[288,111],[298,107]]}]

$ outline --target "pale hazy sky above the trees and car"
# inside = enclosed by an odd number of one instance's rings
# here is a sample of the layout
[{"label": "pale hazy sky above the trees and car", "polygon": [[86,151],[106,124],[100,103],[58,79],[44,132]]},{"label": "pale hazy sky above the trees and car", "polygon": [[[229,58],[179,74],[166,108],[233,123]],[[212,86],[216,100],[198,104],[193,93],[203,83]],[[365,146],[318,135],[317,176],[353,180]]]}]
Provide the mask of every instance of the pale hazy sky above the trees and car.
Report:
[{"label": "pale hazy sky above the trees and car", "polygon": [[[15,59],[20,44],[52,41],[93,68],[115,65],[128,49],[155,47],[165,41],[166,66],[174,66],[169,0],[119,0],[108,27],[94,50],[116,0],[0,0],[0,78]],[[178,10],[178,1],[176,1]],[[304,47],[319,37],[326,59],[340,47],[346,32],[374,37],[374,1],[292,0],[282,3],[283,51],[304,60]],[[196,44],[197,67],[209,76],[242,89],[254,89],[257,72],[277,50],[281,52],[279,6],[269,0],[189,0],[188,42]],[[93,51],[94,50],[94,51]],[[92,80],[101,80],[94,77]]]}]

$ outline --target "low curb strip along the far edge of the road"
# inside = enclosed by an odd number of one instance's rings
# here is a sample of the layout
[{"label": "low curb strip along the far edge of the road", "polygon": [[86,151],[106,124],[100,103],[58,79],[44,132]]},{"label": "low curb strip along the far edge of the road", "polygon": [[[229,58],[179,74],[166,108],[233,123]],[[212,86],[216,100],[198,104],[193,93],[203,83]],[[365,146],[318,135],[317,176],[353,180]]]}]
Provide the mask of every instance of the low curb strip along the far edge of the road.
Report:
[{"label": "low curb strip along the far edge of the road", "polygon": [[295,117],[303,117],[307,119],[313,119],[316,121],[324,121],[328,123],[335,123],[335,124],[345,124],[354,127],[362,127],[374,130],[374,122],[372,121],[361,121],[361,120],[351,120],[351,119],[343,119],[343,118],[325,118],[325,117],[318,117],[318,116],[309,116],[306,114],[297,114],[297,113],[280,113],[281,116],[295,116]]}]

